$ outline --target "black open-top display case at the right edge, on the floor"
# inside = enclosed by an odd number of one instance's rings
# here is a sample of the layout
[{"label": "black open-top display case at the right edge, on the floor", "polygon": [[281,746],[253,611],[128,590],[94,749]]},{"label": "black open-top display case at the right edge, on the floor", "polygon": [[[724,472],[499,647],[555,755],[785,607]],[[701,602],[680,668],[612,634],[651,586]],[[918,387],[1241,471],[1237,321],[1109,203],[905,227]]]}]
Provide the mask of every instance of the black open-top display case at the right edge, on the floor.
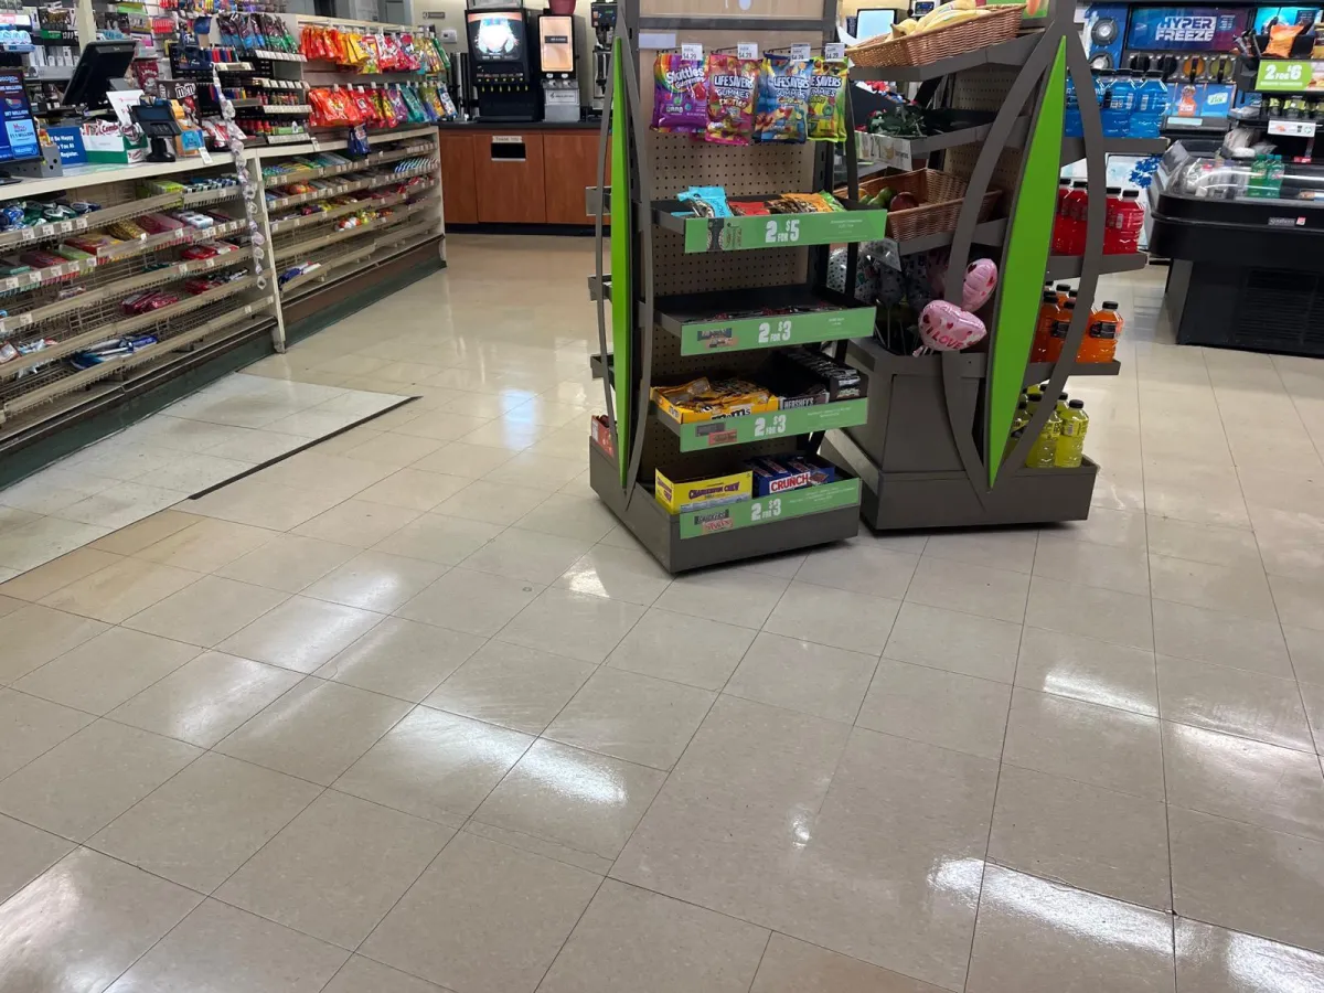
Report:
[{"label": "black open-top display case at the right edge, on the floor", "polygon": [[1149,187],[1149,254],[1172,260],[1178,344],[1324,356],[1324,164],[1268,192],[1215,140],[1186,139]]}]

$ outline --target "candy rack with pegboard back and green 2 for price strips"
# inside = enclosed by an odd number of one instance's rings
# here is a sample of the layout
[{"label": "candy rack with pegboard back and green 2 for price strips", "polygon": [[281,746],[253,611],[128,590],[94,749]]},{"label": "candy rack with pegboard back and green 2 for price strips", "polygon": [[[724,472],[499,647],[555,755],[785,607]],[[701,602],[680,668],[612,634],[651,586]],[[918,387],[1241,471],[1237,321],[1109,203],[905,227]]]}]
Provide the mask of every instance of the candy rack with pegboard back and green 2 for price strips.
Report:
[{"label": "candy rack with pegboard back and green 2 for price strips", "polygon": [[[825,485],[679,514],[658,503],[650,486],[663,466],[707,473],[756,455],[813,453],[828,428],[862,424],[867,400],[678,424],[649,397],[651,387],[679,379],[749,375],[777,348],[867,336],[874,308],[826,289],[828,252],[833,244],[880,238],[887,212],[846,201],[843,213],[722,220],[673,213],[686,209],[674,197],[690,185],[722,184],[741,199],[830,189],[838,152],[829,142],[723,146],[654,132],[651,86],[639,85],[651,78],[657,50],[686,42],[704,50],[756,42],[769,50],[834,41],[835,0],[790,0],[779,5],[777,17],[690,16],[674,7],[674,0],[618,4],[600,183],[589,196],[597,233],[589,286],[601,344],[594,375],[604,379],[608,405],[606,441],[589,444],[589,466],[604,503],[665,568],[682,572],[857,534],[861,485],[846,471]],[[854,142],[839,150],[854,188]],[[610,274],[602,237],[608,216]],[[851,271],[854,256],[853,248]],[[724,316],[751,302],[841,308],[771,320]],[[614,351],[608,347],[608,310]],[[704,332],[715,324],[723,334],[708,338]]]}]

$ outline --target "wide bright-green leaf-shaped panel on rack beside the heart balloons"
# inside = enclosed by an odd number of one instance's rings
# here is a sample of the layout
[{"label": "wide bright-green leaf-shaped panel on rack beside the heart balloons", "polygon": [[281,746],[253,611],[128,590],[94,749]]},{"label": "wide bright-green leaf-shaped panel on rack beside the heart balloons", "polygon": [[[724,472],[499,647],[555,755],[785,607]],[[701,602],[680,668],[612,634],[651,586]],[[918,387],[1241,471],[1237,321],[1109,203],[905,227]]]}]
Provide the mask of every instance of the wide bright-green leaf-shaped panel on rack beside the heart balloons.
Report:
[{"label": "wide bright-green leaf-shaped panel on rack beside the heart balloons", "polygon": [[1016,212],[1012,214],[1006,265],[1002,269],[997,334],[993,335],[989,350],[989,416],[984,446],[990,487],[997,479],[1006,438],[1012,432],[1012,418],[1030,363],[1034,322],[1043,297],[1043,273],[1049,265],[1049,241],[1053,237],[1062,158],[1066,45],[1064,40],[1058,42],[1058,53],[1043,89],[1043,102],[1034,120],[1034,132],[1025,155],[1025,175],[1016,197]]}]

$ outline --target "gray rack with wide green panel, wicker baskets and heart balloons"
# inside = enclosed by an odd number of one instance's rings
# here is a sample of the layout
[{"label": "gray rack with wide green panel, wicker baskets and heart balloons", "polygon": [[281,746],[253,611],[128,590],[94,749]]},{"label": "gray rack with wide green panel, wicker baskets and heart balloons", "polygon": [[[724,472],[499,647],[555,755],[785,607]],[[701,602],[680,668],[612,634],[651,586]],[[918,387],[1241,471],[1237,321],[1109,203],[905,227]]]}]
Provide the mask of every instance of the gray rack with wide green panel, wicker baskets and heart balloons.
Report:
[{"label": "gray rack with wide green panel, wicker baskets and heart balloons", "polygon": [[[1080,101],[1083,138],[1063,138],[1066,79],[1092,93],[1071,0],[1050,0],[1046,16],[1022,20],[1013,41],[923,66],[851,69],[855,79],[910,82],[949,78],[949,105],[996,111],[978,144],[945,154],[944,169],[968,183],[951,244],[948,271],[964,271],[973,245],[998,265],[1000,283],[985,314],[981,351],[896,355],[876,340],[854,340],[847,360],[870,375],[866,424],[833,430],[824,451],[863,483],[862,516],[875,530],[1049,523],[1088,516],[1098,466],[1027,469],[1026,457],[1053,404],[1041,404],[1016,445],[1008,444],[1023,387],[1047,380],[1055,397],[1072,375],[1116,375],[1116,361],[1076,361],[1090,307],[1070,323],[1055,363],[1031,363],[1035,315],[1046,279],[1079,279],[1094,301],[1099,277],[1143,269],[1144,253],[1103,254],[1107,152],[1157,152],[1158,139],[1104,139],[1099,107]],[[1025,115],[1030,126],[1023,127]],[[1083,159],[1088,183],[1087,236],[1080,257],[1050,256],[1062,163]],[[978,224],[978,197],[998,187],[1009,197],[1000,226]],[[929,245],[924,245],[928,248]],[[918,250],[902,242],[899,254]],[[947,281],[957,306],[961,281]],[[1087,442],[1088,450],[1088,442]]]}]

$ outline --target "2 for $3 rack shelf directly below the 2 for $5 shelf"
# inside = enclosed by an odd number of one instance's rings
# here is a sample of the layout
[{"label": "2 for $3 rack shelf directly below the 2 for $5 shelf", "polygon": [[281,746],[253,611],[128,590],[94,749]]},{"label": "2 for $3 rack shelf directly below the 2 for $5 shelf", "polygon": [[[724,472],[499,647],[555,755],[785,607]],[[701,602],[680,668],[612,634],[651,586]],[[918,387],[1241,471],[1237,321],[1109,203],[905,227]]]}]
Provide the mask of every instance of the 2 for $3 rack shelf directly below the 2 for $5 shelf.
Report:
[{"label": "2 for $3 rack shelf directly below the 2 for $5 shelf", "polygon": [[[814,310],[824,305],[834,308]],[[764,308],[802,312],[737,316]],[[659,297],[654,305],[658,327],[681,339],[681,355],[867,338],[874,331],[875,312],[874,307],[862,307],[845,294],[808,286]]]}]

